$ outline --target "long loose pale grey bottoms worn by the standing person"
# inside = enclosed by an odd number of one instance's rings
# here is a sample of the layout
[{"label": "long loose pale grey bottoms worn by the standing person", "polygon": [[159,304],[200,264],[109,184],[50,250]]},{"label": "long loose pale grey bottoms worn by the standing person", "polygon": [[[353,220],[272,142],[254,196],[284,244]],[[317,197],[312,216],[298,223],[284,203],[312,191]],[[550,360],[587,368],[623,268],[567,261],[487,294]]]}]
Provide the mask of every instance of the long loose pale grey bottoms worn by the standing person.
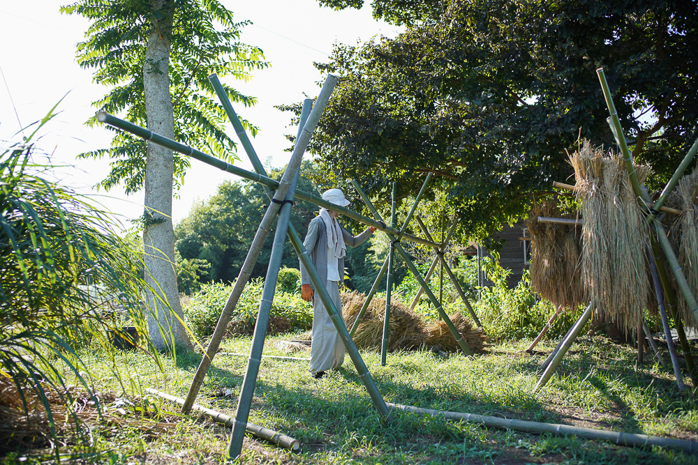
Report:
[{"label": "long loose pale grey bottoms worn by the standing person", "polygon": [[[341,298],[339,297],[339,283],[326,281],[325,289],[332,302],[342,315]],[[337,333],[332,319],[329,318],[325,305],[318,292],[313,294],[313,342],[310,349],[310,372],[313,376],[328,369],[340,367],[344,363],[344,343]]]}]

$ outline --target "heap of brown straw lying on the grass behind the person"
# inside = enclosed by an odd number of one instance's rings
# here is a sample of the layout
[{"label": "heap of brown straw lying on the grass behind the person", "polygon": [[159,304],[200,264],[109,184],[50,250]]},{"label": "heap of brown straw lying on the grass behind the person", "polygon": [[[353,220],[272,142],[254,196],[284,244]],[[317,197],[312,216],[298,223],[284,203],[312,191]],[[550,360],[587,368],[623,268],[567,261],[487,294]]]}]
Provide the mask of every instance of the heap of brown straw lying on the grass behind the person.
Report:
[{"label": "heap of brown straw lying on the grass behind the person", "polygon": [[[342,314],[347,328],[351,328],[361,311],[366,296],[357,291],[341,294]],[[366,309],[364,317],[354,333],[354,344],[359,349],[380,350],[383,341],[383,317],[385,315],[385,298],[373,298]],[[474,328],[468,319],[459,313],[450,316],[456,329],[461,332],[463,340],[473,351],[482,351],[487,344],[487,335],[481,328]],[[310,340],[312,332],[304,333],[299,340]],[[399,299],[390,299],[390,321],[388,324],[388,350],[418,349],[424,346],[439,346],[445,351],[458,351],[456,343],[446,323],[443,321],[424,321]]]}]

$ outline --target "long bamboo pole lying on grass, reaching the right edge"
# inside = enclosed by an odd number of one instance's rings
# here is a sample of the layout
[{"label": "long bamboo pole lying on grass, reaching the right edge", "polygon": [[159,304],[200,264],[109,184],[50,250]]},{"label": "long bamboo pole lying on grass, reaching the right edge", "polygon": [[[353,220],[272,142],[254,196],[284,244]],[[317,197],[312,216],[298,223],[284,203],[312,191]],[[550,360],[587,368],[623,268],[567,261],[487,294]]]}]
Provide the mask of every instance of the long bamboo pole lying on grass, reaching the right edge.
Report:
[{"label": "long bamboo pole lying on grass, reaching the right edge", "polygon": [[556,425],[554,423],[540,423],[524,420],[509,420],[507,418],[497,418],[486,415],[475,415],[475,413],[459,413],[450,411],[439,411],[432,409],[421,409],[408,405],[392,404],[391,409],[403,412],[417,413],[418,415],[429,415],[433,417],[443,416],[447,420],[464,421],[475,425],[484,425],[488,428],[512,429],[524,433],[549,433],[555,436],[577,436],[584,439],[608,441],[616,445],[648,447],[658,445],[664,448],[683,450],[690,454],[698,452],[698,442],[682,441],[680,439],[662,438],[659,436],[647,436],[645,434],[632,434],[623,432],[612,432],[606,429],[583,428],[569,425]]}]

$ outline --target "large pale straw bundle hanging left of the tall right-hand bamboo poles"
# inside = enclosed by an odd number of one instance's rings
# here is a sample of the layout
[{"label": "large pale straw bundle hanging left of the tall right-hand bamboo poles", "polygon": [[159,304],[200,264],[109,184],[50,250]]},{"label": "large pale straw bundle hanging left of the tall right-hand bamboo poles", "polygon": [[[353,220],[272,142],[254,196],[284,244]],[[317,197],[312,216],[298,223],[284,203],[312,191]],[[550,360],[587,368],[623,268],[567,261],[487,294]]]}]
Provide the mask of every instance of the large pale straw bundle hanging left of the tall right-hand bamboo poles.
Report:
[{"label": "large pale straw bundle hanging left of the tall right-hand bamboo poles", "polygon": [[[582,201],[581,280],[585,300],[596,299],[602,321],[637,331],[641,310],[652,307],[646,271],[650,231],[619,155],[584,142],[570,156]],[[636,166],[640,183],[650,169]]]}]

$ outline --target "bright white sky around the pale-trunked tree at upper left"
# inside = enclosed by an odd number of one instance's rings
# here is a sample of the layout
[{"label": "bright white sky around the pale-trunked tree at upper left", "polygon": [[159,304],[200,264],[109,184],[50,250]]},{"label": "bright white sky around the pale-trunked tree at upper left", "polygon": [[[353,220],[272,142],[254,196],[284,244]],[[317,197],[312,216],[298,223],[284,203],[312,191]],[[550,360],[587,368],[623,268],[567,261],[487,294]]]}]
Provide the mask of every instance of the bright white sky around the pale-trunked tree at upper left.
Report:
[{"label": "bright white sky around the pale-trunked tree at upper left", "polygon": [[[258,125],[260,132],[252,141],[255,151],[262,162],[271,158],[275,167],[288,162],[290,153],[284,149],[289,143],[284,135],[295,135],[297,128],[288,127],[291,114],[274,109],[274,105],[300,102],[318,94],[315,83],[324,77],[313,67],[313,61],[327,61],[335,42],[355,44],[399,32],[394,26],[373,20],[370,7],[334,11],[320,8],[315,0],[222,1],[237,19],[253,21],[244,29],[242,42],[260,47],[272,63],[272,68],[255,72],[251,82],[222,80],[258,98],[255,107],[235,110]],[[67,93],[59,105],[61,114],[45,127],[38,145],[52,153],[54,165],[75,165],[57,171],[64,183],[95,192],[91,186],[105,178],[108,161],[76,160],[75,155],[109,146],[109,131],[84,125],[96,111],[91,102],[104,96],[107,88],[93,84],[92,71],[77,66],[75,45],[84,40],[88,22],[82,17],[61,15],[59,5],[66,3],[70,0],[0,0],[0,139],[18,140],[14,135],[20,130],[20,122],[27,126],[41,119]],[[237,142],[232,127],[229,134]],[[237,165],[251,170],[242,146],[239,156],[242,161]],[[174,199],[174,222],[187,215],[193,202],[206,199],[219,183],[234,178],[192,160],[179,199]],[[99,194],[106,197],[98,201],[124,220],[142,214],[142,192],[126,197],[122,189],[115,188]]]}]

